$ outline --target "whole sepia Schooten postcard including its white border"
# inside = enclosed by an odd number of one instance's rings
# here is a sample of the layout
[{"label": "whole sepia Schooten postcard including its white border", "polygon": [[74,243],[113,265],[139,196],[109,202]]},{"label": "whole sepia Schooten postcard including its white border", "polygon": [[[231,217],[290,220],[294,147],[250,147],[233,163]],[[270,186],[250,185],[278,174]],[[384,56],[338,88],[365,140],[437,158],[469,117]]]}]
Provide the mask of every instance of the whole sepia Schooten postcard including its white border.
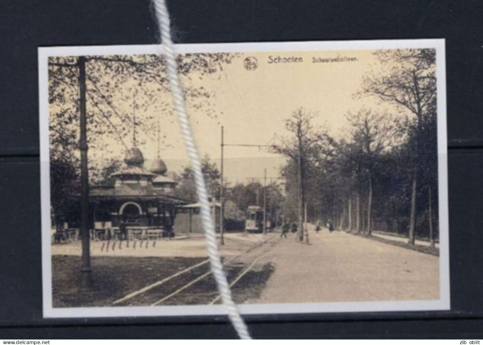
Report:
[{"label": "whole sepia Schooten postcard including its white border", "polygon": [[[444,40],[176,52],[242,314],[450,308]],[[39,73],[44,317],[225,314],[161,47]]]}]

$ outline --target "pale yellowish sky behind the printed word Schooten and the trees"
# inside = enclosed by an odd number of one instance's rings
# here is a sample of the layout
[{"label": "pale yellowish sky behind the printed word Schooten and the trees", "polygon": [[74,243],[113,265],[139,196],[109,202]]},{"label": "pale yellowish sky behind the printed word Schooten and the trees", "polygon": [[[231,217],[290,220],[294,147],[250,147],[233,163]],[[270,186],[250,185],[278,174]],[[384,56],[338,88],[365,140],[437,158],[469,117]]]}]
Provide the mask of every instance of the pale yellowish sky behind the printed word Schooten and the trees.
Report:
[{"label": "pale yellowish sky behind the printed word Schooten and the trees", "polygon": [[[347,111],[357,111],[362,107],[386,107],[379,105],[373,97],[354,97],[360,90],[362,77],[371,70],[381,68],[371,53],[243,53],[235,57],[231,64],[223,65],[222,71],[205,76],[202,80],[193,75],[189,80],[184,78],[183,83],[202,85],[214,95],[206,100],[205,106],[209,102],[217,118],[207,116],[204,107],[190,106],[188,98],[188,113],[201,156],[208,154],[219,166],[222,125],[225,128],[226,144],[264,145],[273,143],[274,136],[286,137],[288,133],[284,120],[300,107],[318,114],[313,120],[314,125],[328,128],[336,137],[343,135],[344,115]],[[243,61],[248,56],[257,59],[256,69],[245,69]],[[298,57],[303,62],[269,63],[277,57]],[[313,58],[328,57],[350,57],[355,61],[313,63]],[[170,94],[160,92],[158,103],[172,104]],[[117,100],[114,98],[114,106],[120,111],[132,111],[132,101],[120,97]],[[160,110],[155,104],[140,111],[137,116],[158,113]],[[166,110],[161,115],[161,136],[170,143],[169,146],[161,147],[161,158],[166,160],[169,170],[179,172],[181,166],[188,165],[188,162],[176,115],[174,111]],[[138,137],[142,136],[139,130]],[[124,157],[124,146],[116,138],[103,138],[103,141],[110,146],[110,150],[119,152],[116,153],[119,158]],[[131,138],[125,141],[132,145]],[[157,154],[157,141],[147,140],[139,148],[146,160],[152,160]],[[91,150],[89,159],[106,158],[105,154]],[[264,157],[270,157],[265,164]],[[278,175],[278,167],[284,163],[283,157],[259,148],[226,147],[225,158],[225,175],[232,182],[261,177],[265,167],[269,171],[267,175],[274,177]]]}]

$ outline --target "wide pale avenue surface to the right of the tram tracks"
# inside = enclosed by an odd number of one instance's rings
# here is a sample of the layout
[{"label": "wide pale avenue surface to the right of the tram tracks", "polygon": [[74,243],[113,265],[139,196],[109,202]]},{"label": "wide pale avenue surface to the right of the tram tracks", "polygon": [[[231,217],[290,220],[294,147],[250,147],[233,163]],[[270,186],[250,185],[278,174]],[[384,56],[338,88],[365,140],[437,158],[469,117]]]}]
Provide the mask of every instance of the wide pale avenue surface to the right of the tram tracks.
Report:
[{"label": "wide pale avenue surface to the right of the tram tracks", "polygon": [[309,239],[290,235],[265,256],[275,271],[247,304],[439,299],[438,257],[326,228]]}]

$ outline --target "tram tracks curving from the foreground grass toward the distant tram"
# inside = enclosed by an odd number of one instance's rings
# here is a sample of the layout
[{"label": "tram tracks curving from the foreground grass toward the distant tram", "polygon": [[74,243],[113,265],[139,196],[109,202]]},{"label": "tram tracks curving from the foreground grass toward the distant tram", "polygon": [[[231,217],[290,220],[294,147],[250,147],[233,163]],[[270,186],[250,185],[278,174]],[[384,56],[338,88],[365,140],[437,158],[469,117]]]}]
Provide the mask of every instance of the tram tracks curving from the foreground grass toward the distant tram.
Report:
[{"label": "tram tracks curving from the foreground grass toward the distant tram", "polygon": [[[258,262],[258,260],[263,255],[267,254],[270,249],[276,243],[278,243],[280,239],[277,237],[278,236],[276,234],[271,235],[269,236],[269,238],[259,243],[256,243],[242,253],[228,258],[225,262],[223,262],[224,269],[227,272],[230,287],[238,283],[243,276],[248,274],[250,270],[254,267],[256,262]],[[264,246],[266,244],[269,244],[269,246]],[[260,252],[255,253],[255,251],[257,250],[259,250]],[[248,260],[250,259],[250,257],[252,259],[253,257],[255,257],[255,260]],[[248,264],[232,264],[237,259],[241,261],[248,260]],[[209,268],[208,270],[206,268],[203,268],[208,263],[209,260],[204,260],[188,268],[185,268],[182,271],[163,278],[140,290],[129,293],[123,298],[115,301],[113,305],[172,305],[173,303],[177,304],[176,301],[173,302],[173,300],[179,300],[180,298],[182,298],[180,297],[181,295],[189,297],[190,301],[198,301],[201,299],[203,300],[203,302],[206,302],[201,304],[214,304],[219,300],[220,296],[218,295],[216,286],[209,287],[210,285],[212,285],[211,280],[213,279],[210,279],[210,277],[212,277],[212,272]],[[203,285],[205,290],[203,290],[202,292],[195,291],[195,293],[189,293],[190,290],[197,289],[197,286],[199,285],[197,283]],[[213,292],[209,292],[206,290],[211,290]]]}]

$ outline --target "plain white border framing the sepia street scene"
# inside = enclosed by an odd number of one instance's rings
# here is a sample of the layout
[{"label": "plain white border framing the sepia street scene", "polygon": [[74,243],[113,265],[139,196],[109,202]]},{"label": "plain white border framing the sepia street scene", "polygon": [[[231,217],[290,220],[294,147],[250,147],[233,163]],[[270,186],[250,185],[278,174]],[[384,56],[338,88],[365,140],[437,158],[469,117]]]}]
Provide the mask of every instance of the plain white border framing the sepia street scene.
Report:
[{"label": "plain white border framing the sepia street scene", "polygon": [[[338,51],[401,48],[435,48],[438,90],[438,166],[439,166],[439,225],[440,225],[440,299],[421,301],[337,302],[297,304],[241,304],[241,314],[305,314],[334,312],[390,312],[449,310],[449,221],[448,172],[446,134],[446,64],[444,39],[374,40],[374,41],[299,41],[251,43],[177,44],[175,52],[184,53],[248,53],[282,51]],[[50,242],[50,164],[49,164],[49,56],[76,55],[134,55],[160,54],[160,45],[111,45],[39,47],[39,107],[40,107],[40,168],[42,211],[42,277],[43,317],[147,317],[147,316],[203,316],[225,315],[221,305],[196,306],[132,306],[78,307],[52,306],[52,264]]]}]

